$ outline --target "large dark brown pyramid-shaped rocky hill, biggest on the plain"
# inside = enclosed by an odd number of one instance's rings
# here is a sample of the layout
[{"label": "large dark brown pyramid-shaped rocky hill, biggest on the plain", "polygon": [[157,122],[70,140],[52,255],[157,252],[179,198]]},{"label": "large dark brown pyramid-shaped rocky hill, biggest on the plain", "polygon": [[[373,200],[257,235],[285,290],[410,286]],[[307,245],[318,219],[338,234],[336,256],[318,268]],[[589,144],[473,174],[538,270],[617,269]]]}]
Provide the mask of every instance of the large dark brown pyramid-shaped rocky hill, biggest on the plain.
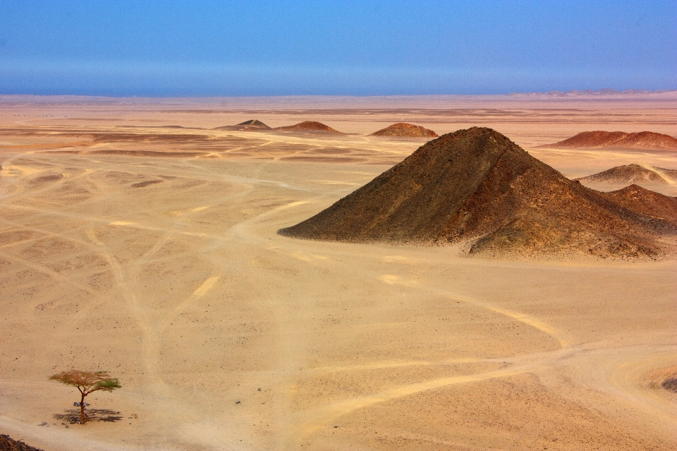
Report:
[{"label": "large dark brown pyramid-shaped rocky hill, biggest on the plain", "polygon": [[467,242],[471,254],[517,257],[657,258],[666,252],[657,236],[677,234],[677,227],[566,179],[490,128],[474,127],[429,141],[279,234],[354,243]]}]

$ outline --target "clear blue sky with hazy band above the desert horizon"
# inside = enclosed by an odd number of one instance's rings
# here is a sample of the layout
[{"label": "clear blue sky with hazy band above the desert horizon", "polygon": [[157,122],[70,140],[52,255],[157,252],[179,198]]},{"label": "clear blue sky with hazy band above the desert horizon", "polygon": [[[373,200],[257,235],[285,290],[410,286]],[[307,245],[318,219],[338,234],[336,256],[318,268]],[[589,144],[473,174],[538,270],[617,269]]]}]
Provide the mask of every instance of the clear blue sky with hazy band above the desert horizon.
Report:
[{"label": "clear blue sky with hazy band above the desert horizon", "polygon": [[677,1],[0,0],[0,94],[676,90]]}]

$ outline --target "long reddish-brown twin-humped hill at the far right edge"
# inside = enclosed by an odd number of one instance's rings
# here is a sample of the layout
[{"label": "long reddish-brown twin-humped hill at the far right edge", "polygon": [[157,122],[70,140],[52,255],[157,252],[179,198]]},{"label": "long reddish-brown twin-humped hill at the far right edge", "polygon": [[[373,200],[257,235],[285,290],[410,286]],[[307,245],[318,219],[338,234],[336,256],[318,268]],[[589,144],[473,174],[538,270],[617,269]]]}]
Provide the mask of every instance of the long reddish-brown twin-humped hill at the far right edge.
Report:
[{"label": "long reddish-brown twin-humped hill at the far right edge", "polygon": [[559,143],[539,146],[556,149],[641,149],[641,150],[677,150],[677,139],[669,135],[640,131],[624,133],[622,131],[583,131]]}]

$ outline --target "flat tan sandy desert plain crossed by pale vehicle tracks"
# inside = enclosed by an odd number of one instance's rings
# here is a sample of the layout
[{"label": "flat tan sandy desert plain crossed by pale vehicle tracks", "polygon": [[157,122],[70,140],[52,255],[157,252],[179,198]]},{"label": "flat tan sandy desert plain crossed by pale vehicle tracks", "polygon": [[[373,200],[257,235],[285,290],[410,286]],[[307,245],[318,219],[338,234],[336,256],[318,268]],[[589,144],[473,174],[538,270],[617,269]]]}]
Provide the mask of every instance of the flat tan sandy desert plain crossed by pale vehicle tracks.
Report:
[{"label": "flat tan sandy desert plain crossed by pale vehicle tracks", "polygon": [[[490,126],[573,178],[677,169],[675,152],[535,148],[675,136],[676,100],[0,97],[0,432],[48,451],[674,450],[677,262],[276,230],[425,142],[365,136],[395,122]],[[247,119],[348,134],[209,130]],[[120,379],[89,397],[111,421],[56,419],[78,399],[47,377],[71,366]]]}]

